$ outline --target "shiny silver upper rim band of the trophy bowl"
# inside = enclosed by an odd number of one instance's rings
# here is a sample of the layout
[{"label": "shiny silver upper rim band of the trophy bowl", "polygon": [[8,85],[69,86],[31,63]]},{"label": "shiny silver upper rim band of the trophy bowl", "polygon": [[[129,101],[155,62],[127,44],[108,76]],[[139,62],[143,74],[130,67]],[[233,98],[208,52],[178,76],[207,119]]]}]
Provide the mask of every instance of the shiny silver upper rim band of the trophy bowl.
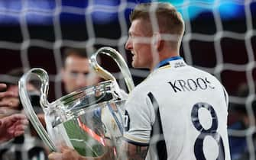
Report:
[{"label": "shiny silver upper rim band of the trophy bowl", "polygon": [[115,92],[115,81],[109,80],[66,94],[50,103],[48,107],[54,106],[55,109],[52,111],[61,111],[62,114],[56,115],[55,120],[57,121],[53,123],[53,126],[58,126],[60,123],[85,114],[92,107],[104,107],[105,104],[122,103],[123,101],[125,100]]}]

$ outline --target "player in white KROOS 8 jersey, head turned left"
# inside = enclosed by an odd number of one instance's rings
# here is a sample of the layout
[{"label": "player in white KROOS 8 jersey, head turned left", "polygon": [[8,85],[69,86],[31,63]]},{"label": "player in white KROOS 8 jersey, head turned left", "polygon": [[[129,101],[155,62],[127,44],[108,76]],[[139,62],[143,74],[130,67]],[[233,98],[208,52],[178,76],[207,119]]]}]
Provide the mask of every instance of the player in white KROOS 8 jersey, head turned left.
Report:
[{"label": "player in white KROOS 8 jersey, head turned left", "polygon": [[212,75],[180,57],[181,15],[169,3],[138,5],[128,41],[134,68],[150,69],[125,104],[124,158],[230,159],[228,94]]}]

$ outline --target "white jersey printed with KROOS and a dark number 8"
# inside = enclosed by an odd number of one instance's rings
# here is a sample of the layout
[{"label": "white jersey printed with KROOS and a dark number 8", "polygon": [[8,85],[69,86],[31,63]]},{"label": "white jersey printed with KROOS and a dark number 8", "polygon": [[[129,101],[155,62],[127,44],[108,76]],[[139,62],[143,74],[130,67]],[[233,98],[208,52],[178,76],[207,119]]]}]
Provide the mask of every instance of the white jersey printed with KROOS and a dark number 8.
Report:
[{"label": "white jersey printed with KROOS and a dark number 8", "polygon": [[147,159],[229,160],[227,106],[228,94],[214,76],[172,60],[131,92],[124,137],[149,145]]}]

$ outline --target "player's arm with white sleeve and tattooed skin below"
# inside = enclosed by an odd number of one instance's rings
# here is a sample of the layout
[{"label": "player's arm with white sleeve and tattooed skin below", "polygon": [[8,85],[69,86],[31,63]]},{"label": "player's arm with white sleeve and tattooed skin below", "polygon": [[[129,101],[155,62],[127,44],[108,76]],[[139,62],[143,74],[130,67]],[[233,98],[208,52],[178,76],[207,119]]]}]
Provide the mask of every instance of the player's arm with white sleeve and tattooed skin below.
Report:
[{"label": "player's arm with white sleeve and tattooed skin below", "polygon": [[140,93],[133,94],[125,104],[125,132],[121,159],[146,158],[153,122],[154,107],[150,98]]}]

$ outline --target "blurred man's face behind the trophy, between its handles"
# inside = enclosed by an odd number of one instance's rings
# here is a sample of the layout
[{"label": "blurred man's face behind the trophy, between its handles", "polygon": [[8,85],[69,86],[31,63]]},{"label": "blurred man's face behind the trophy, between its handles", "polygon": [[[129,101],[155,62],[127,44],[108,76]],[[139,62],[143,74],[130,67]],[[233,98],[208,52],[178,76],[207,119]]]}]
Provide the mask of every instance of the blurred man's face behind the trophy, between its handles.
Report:
[{"label": "blurred man's face behind the trophy, between its handles", "polygon": [[62,75],[66,93],[99,82],[99,77],[90,69],[89,59],[72,54],[66,57]]}]

